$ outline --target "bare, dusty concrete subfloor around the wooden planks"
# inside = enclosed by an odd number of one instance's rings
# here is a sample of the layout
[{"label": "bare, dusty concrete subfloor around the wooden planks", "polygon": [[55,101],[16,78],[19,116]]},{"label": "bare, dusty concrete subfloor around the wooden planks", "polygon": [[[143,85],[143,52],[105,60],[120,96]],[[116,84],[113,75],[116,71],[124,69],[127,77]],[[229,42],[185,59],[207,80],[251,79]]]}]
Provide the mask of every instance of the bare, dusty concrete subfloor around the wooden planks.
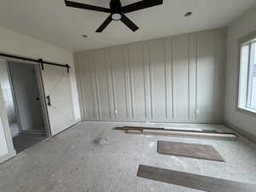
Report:
[{"label": "bare, dusty concrete subfloor around the wooden planks", "polygon": [[[0,165],[1,192],[199,192],[137,177],[139,164],[256,183],[256,144],[184,137],[129,135],[115,126],[82,122]],[[150,124],[153,126],[152,124]],[[155,124],[162,125],[162,124]],[[172,125],[227,131],[224,125]],[[210,144],[225,163],[157,154],[157,141]]]}]

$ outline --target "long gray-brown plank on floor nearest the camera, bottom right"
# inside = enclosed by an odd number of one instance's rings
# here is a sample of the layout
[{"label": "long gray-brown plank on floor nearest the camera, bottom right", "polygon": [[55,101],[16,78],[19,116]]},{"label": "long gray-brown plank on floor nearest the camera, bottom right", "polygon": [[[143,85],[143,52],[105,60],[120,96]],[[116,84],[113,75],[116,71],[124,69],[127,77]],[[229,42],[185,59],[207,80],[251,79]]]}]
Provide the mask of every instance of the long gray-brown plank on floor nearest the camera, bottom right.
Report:
[{"label": "long gray-brown plank on floor nearest the camera, bottom right", "polygon": [[140,165],[137,177],[207,192],[255,192],[256,185]]}]

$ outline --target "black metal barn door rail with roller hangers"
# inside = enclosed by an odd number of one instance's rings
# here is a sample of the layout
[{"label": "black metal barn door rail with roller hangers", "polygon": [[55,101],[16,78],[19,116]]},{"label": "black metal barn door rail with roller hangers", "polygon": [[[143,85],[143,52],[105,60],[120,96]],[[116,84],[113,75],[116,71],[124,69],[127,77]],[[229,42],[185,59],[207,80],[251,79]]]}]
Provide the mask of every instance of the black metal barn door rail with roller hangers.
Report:
[{"label": "black metal barn door rail with roller hangers", "polygon": [[31,58],[27,58],[24,56],[16,56],[16,55],[9,55],[9,54],[2,54],[0,53],[0,56],[3,57],[9,57],[9,58],[13,58],[13,59],[18,59],[18,60],[23,60],[23,61],[32,61],[32,62],[38,62],[41,65],[42,70],[44,70],[44,65],[52,65],[52,66],[56,66],[56,67],[66,67],[67,68],[67,73],[69,73],[69,68],[70,66],[68,64],[59,64],[59,63],[55,63],[55,62],[49,62],[49,61],[43,61],[43,59],[31,59]]}]

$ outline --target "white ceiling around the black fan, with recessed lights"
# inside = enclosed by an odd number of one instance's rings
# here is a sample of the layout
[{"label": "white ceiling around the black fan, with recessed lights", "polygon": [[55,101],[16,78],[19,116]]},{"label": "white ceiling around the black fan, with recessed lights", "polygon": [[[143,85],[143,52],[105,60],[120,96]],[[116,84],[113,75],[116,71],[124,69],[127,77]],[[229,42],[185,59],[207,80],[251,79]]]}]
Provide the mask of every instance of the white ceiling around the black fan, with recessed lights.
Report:
[{"label": "white ceiling around the black fan, with recessed lights", "polygon": [[[123,5],[137,1],[121,0]],[[108,7],[109,0],[77,2]],[[64,0],[0,0],[0,26],[79,51],[226,26],[254,5],[256,0],[164,0],[163,5],[127,14],[140,27],[137,32],[113,21],[96,33],[108,14],[68,8]],[[188,11],[194,14],[185,18]]]}]

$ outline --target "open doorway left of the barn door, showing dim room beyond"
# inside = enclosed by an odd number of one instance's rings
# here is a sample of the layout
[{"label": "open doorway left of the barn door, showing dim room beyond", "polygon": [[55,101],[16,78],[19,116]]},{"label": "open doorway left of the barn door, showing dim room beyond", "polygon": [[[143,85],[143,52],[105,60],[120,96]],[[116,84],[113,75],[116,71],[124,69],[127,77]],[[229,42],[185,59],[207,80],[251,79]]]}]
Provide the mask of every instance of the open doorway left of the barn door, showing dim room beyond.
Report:
[{"label": "open doorway left of the barn door, showing dim room beyond", "polygon": [[49,137],[44,90],[38,65],[0,61],[4,106],[16,153]]}]

